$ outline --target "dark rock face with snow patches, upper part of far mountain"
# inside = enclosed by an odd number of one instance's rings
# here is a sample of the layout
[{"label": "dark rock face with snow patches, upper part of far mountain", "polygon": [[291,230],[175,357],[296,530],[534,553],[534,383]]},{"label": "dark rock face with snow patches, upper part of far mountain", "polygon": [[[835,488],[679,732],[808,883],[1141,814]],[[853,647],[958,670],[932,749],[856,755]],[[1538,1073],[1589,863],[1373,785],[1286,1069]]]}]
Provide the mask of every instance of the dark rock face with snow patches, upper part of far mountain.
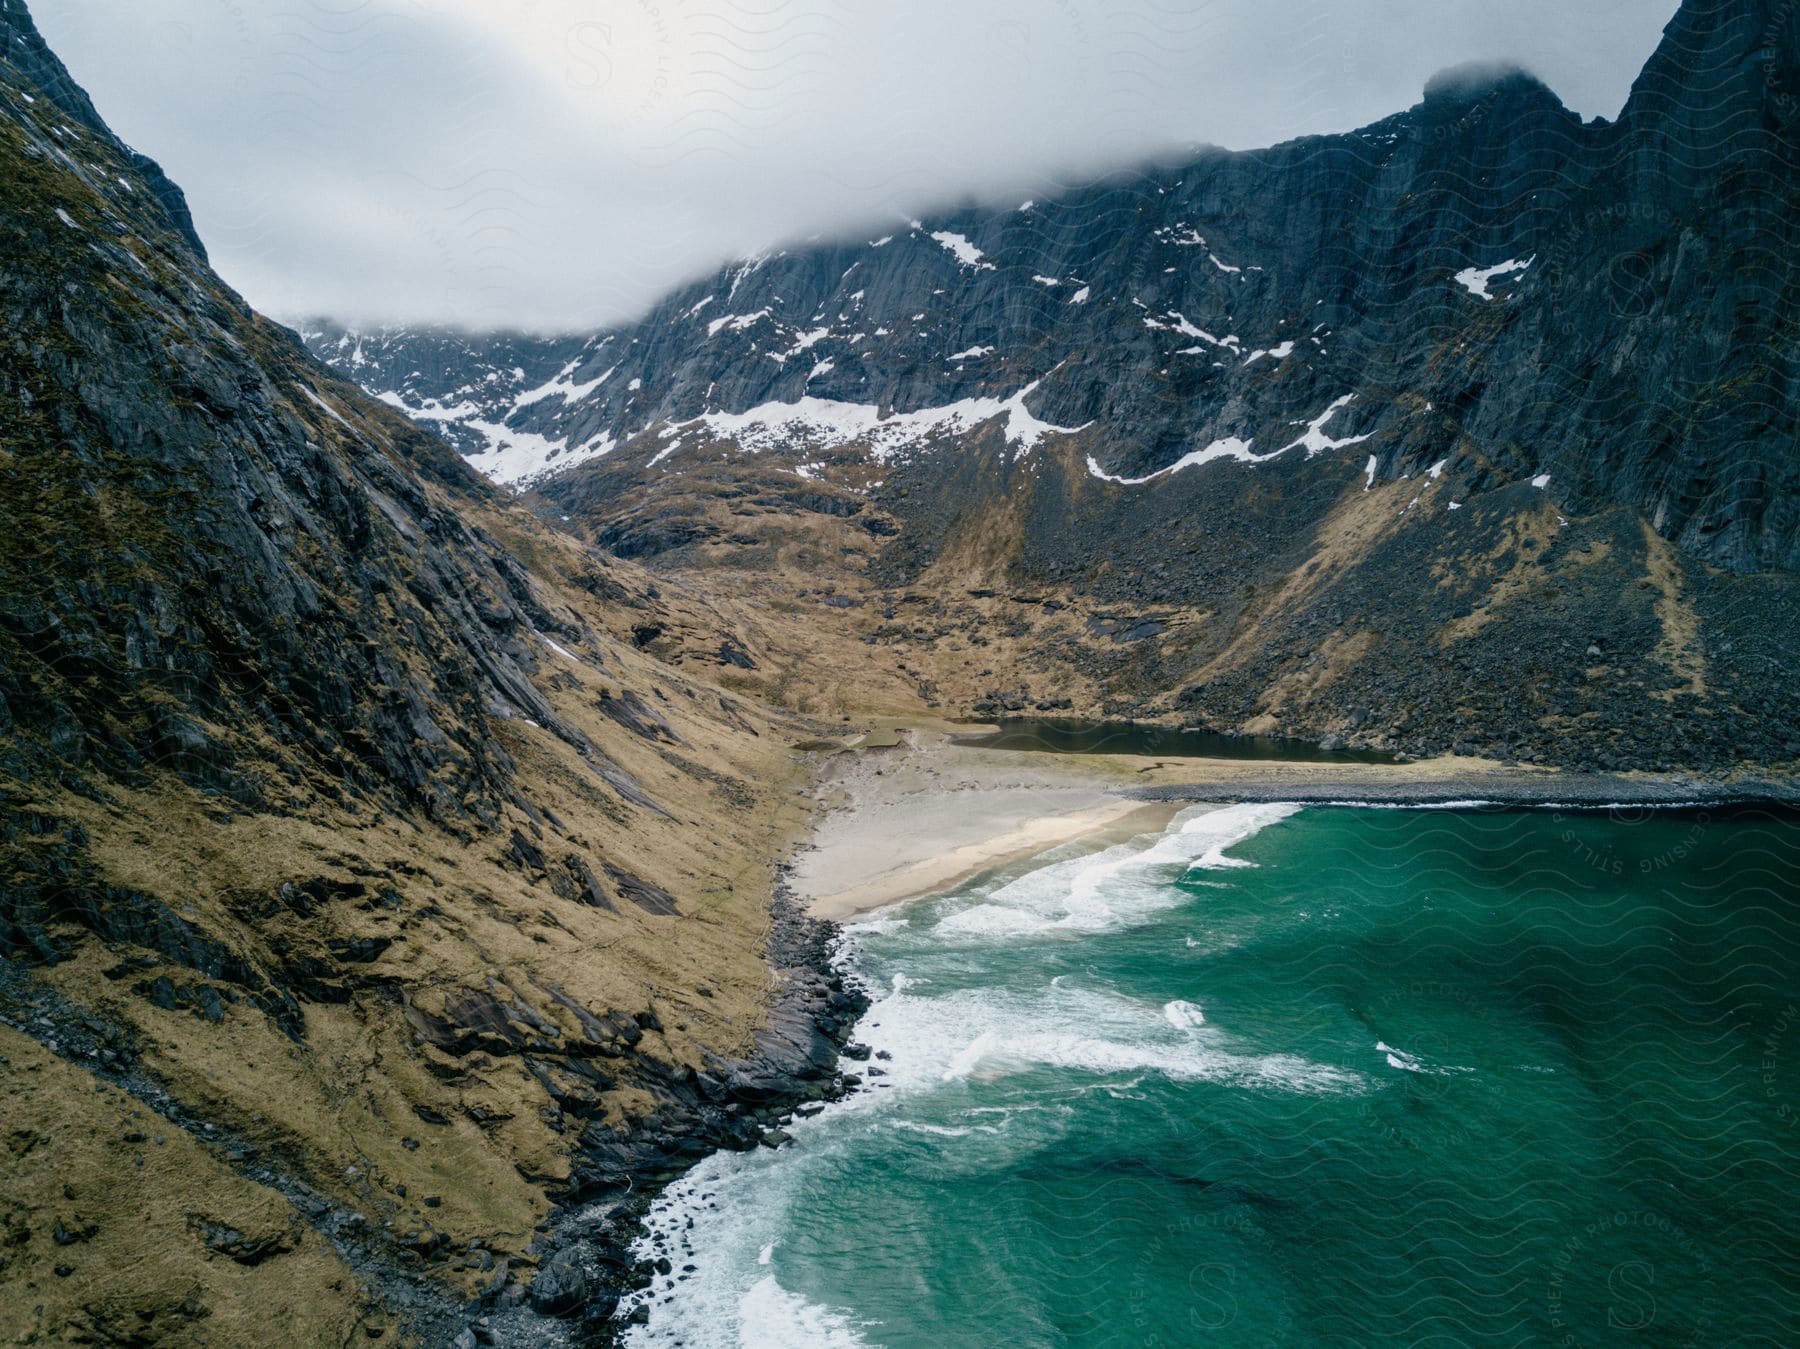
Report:
[{"label": "dark rock face with snow patches, upper part of far mountain", "polygon": [[578,457],[709,411],[1035,385],[1033,414],[1093,423],[1103,466],[1141,477],[1224,438],[1278,448],[1354,393],[1328,434],[1375,432],[1382,479],[1445,456],[1550,474],[1568,510],[1795,569],[1795,29],[1777,0],[1690,0],[1613,124],[1525,74],[1442,77],[1346,135],[736,263],[596,335],[580,396],[482,420]]}]

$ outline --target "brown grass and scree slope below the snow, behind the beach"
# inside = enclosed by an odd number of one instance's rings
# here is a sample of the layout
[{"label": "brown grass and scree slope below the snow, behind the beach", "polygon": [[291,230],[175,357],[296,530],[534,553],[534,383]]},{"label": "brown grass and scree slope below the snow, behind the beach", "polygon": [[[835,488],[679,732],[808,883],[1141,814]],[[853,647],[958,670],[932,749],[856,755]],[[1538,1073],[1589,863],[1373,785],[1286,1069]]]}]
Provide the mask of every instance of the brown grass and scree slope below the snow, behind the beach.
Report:
[{"label": "brown grass and scree slope below the snow, behind the beach", "polygon": [[[769,650],[810,643],[869,710],[1615,771],[1795,762],[1793,575],[1708,567],[1627,506],[1557,508],[1472,441],[1368,483],[1386,445],[1116,484],[1087,470],[1098,432],[1015,457],[986,427],[886,465],[691,432],[664,457],[646,434],[527,501],[736,596]],[[823,681],[749,679],[837,710]]]}]

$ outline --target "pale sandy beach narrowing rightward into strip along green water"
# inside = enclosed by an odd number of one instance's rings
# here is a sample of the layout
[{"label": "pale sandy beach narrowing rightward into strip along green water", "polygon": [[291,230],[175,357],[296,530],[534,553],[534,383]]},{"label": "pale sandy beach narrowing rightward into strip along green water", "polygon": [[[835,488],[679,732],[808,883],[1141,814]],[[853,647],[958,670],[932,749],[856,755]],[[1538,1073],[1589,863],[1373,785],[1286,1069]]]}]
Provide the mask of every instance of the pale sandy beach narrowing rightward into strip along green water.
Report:
[{"label": "pale sandy beach narrowing rightward into strip along green water", "polygon": [[848,919],[1064,843],[1102,845],[1161,830],[1199,801],[1678,803],[1768,800],[1777,787],[1571,774],[1481,758],[1294,764],[954,744],[976,729],[882,722],[866,747],[846,746],[824,762],[815,789],[824,809],[790,874],[814,915]]}]

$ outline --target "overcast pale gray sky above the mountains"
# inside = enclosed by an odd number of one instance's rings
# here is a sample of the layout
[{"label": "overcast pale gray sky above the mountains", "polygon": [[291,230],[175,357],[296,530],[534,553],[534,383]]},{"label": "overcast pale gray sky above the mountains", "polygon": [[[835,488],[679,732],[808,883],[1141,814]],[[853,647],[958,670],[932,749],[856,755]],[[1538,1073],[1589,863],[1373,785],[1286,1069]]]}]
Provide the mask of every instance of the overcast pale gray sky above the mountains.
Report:
[{"label": "overcast pale gray sky above the mountains", "polygon": [[716,263],[1517,61],[1613,117],[1676,0],[31,0],[284,319],[589,330]]}]

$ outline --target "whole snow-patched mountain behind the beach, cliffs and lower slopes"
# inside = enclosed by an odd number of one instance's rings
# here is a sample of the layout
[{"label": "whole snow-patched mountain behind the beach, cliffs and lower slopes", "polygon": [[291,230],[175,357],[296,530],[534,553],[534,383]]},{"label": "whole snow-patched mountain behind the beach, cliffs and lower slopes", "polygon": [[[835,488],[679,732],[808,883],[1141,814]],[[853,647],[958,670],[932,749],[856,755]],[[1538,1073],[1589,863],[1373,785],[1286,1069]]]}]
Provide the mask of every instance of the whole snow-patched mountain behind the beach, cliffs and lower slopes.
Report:
[{"label": "whole snow-patched mountain behind the beach, cliffs and lower slopes", "polygon": [[380,369],[340,369],[945,710],[1789,760],[1795,54],[1791,7],[1688,0],[1615,122],[1449,72],[1352,133],[733,263],[529,360],[457,337],[419,376],[443,335],[360,333]]}]

